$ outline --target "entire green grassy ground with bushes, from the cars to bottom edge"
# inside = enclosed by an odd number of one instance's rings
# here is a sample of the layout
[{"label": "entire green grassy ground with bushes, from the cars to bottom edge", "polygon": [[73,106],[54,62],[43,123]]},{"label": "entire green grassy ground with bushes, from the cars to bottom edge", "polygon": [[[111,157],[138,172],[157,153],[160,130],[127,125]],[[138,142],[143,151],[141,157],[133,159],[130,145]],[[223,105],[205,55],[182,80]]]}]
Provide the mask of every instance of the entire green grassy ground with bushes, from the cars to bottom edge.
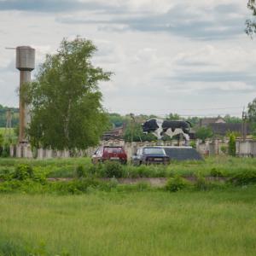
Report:
[{"label": "entire green grassy ground with bushes, from the cars to bottom edge", "polygon": [[[0,255],[255,255],[255,164],[231,157],[170,166],[2,158]],[[164,188],[119,184],[115,175],[168,181]],[[195,183],[183,179],[191,175]],[[212,175],[225,182],[207,181]]]}]

